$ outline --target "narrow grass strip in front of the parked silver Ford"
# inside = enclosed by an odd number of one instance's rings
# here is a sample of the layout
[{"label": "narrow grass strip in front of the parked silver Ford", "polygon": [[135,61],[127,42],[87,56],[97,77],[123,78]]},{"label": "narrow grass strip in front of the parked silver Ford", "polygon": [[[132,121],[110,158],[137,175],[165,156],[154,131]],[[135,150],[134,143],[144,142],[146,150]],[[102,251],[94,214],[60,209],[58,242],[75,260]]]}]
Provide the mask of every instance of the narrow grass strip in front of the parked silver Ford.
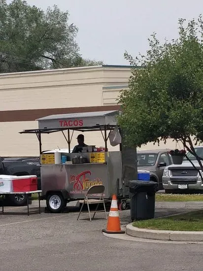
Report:
[{"label": "narrow grass strip in front of the parked silver Ford", "polygon": [[203,194],[156,194],[157,202],[201,202]]}]

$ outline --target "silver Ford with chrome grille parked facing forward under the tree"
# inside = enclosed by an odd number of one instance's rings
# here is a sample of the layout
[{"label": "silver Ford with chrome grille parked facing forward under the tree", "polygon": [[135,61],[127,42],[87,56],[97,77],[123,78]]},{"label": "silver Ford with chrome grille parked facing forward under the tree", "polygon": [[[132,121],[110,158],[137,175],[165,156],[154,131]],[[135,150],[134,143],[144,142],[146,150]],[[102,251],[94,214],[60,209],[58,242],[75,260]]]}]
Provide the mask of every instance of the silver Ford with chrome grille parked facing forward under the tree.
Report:
[{"label": "silver Ford with chrome grille parked facing forward under the tree", "polygon": [[[195,147],[195,151],[199,157],[203,158],[203,146]],[[191,153],[187,153],[187,156],[197,169],[200,169],[196,158]],[[203,190],[203,182],[197,169],[186,158],[183,159],[181,165],[172,164],[166,167],[162,178],[166,193]]]}]

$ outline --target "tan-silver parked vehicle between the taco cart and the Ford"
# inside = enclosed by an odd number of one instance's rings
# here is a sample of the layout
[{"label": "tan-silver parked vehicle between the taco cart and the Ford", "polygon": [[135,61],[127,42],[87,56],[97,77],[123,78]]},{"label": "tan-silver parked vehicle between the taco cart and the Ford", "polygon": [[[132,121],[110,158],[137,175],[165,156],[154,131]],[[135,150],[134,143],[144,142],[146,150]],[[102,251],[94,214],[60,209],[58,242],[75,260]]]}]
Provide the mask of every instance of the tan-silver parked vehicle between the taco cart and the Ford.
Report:
[{"label": "tan-silver parked vehicle between the taco cart and the Ford", "polygon": [[162,175],[164,169],[172,164],[169,150],[137,151],[137,170],[150,171],[150,180],[159,183],[162,189]]}]

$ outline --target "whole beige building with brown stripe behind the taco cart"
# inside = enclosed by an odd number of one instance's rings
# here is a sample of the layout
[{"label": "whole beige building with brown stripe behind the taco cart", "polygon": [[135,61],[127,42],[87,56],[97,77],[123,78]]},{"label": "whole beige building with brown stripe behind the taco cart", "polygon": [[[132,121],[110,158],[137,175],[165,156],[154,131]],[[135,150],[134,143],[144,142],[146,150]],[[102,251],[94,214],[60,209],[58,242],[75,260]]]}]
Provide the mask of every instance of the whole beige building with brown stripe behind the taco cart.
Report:
[{"label": "whole beige building with brown stripe behind the taco cart", "polygon": [[[37,156],[39,146],[36,135],[20,135],[25,129],[38,127],[36,116],[50,115],[50,109],[85,110],[101,106],[114,108],[118,104],[120,91],[128,88],[130,67],[97,66],[67,68],[21,73],[0,74],[0,156]],[[95,107],[96,108],[96,107]],[[42,109],[43,113],[42,113]],[[41,113],[40,113],[41,112]],[[67,112],[67,111],[66,111]],[[42,115],[41,115],[42,114]],[[74,133],[71,147],[76,144]],[[101,132],[85,133],[87,144],[104,146]],[[42,150],[67,148],[62,133],[42,135]],[[141,149],[175,148],[151,143]],[[109,150],[118,150],[108,145]]]}]

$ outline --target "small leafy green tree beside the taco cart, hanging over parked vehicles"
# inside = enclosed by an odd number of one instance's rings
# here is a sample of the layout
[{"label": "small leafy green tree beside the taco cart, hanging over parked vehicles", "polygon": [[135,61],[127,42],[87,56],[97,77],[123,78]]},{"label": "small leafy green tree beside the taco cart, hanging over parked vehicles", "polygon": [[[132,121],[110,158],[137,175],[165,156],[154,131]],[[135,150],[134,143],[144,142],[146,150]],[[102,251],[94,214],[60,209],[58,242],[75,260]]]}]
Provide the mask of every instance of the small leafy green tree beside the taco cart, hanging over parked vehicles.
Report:
[{"label": "small leafy green tree beside the taco cart, hanging over parked vehicles", "polygon": [[123,110],[119,123],[131,146],[174,138],[203,170],[203,159],[194,149],[203,143],[202,16],[186,25],[180,19],[178,29],[178,38],[163,44],[152,34],[145,56],[134,59],[125,53],[132,75],[129,90],[122,91],[119,99]]}]

